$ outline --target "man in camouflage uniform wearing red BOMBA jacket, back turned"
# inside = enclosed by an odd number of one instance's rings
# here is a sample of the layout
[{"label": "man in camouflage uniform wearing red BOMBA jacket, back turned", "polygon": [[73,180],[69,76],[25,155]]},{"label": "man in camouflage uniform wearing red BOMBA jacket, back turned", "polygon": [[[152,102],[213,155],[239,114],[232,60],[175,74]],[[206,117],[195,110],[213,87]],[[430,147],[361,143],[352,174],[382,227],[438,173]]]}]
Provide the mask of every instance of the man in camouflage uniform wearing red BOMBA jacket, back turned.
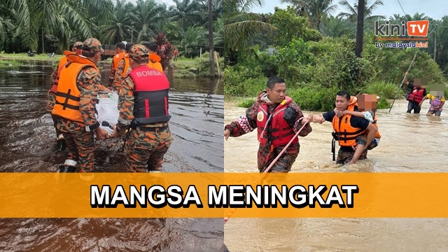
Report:
[{"label": "man in camouflage uniform wearing red BOMBA jacket, back turned", "polygon": [[112,137],[127,133],[126,168],[130,172],[161,172],[173,137],[169,131],[168,91],[165,74],[148,67],[148,50],[134,45],[128,52],[132,71],[120,89],[120,116]]}]

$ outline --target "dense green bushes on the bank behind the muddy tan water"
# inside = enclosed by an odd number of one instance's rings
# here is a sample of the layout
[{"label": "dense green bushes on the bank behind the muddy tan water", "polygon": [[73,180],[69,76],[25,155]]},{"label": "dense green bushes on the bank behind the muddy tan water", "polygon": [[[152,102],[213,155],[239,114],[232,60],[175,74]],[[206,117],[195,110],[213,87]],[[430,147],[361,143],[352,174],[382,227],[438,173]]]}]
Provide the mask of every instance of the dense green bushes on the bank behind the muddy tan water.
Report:
[{"label": "dense green bushes on the bank behind the muddy tan water", "polygon": [[[373,41],[372,36],[366,39]],[[398,99],[403,97],[405,88],[398,87],[416,50],[379,50],[367,42],[363,58],[358,58],[354,47],[355,41],[342,36],[318,42],[292,39],[272,55],[254,48],[238,64],[225,69],[225,95],[255,97],[265,88],[267,77],[272,76],[269,69],[276,67],[278,76],[286,80],[288,96],[304,110],[333,109],[335,94],[340,90],[352,95],[377,94],[381,97],[379,109],[388,108],[397,92]],[[413,78],[446,83],[434,60],[421,50],[409,73],[409,80]]]}]

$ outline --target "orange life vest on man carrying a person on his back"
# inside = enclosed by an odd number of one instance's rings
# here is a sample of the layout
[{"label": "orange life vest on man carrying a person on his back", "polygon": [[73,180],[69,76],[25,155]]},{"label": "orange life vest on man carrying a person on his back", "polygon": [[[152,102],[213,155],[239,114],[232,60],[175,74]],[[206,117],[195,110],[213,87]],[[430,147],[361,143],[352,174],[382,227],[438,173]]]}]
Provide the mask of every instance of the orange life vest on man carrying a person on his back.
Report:
[{"label": "orange life vest on man carrying a person on his back", "polygon": [[[357,101],[358,99],[352,96],[347,110],[354,111]],[[345,115],[342,116],[342,118],[335,116],[332,120],[332,127],[337,137],[337,141],[339,142],[339,146],[356,146],[356,137],[365,133],[365,130],[352,127],[350,119],[350,115]]]}]

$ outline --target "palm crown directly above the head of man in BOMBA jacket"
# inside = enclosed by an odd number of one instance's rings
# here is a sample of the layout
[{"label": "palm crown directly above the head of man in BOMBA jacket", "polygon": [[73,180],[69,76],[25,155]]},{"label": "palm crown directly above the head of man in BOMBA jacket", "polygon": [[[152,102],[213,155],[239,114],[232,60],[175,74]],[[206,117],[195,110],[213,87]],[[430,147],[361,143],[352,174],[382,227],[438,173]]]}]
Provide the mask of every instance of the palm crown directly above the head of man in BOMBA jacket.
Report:
[{"label": "palm crown directly above the head of man in BOMBA jacket", "polygon": [[137,41],[150,41],[158,34],[165,10],[165,5],[155,3],[154,0],[137,1],[137,7],[130,13],[132,25],[138,31]]}]

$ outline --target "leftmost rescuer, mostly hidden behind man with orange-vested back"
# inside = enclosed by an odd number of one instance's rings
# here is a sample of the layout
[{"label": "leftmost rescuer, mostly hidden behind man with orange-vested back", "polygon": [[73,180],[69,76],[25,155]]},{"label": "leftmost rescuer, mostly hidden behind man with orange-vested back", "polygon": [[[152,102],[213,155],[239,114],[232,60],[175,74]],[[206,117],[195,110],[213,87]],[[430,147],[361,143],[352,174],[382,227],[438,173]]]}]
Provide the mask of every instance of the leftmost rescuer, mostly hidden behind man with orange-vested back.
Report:
[{"label": "leftmost rescuer, mostly hidden behind man with orange-vested back", "polygon": [[53,125],[55,126],[55,131],[56,131],[57,149],[59,151],[64,151],[64,149],[66,148],[66,142],[64,140],[64,136],[62,135],[62,132],[60,132],[56,128],[56,123],[57,123],[56,117],[53,116],[51,113],[51,111],[53,110],[53,106],[55,106],[57,83],[59,83],[59,74],[58,73],[59,73],[59,70],[61,69],[61,66],[64,66],[64,64],[66,64],[66,62],[67,62],[66,55],[71,55],[74,53],[76,53],[77,55],[80,55],[82,48],[83,48],[83,42],[77,41],[73,44],[71,51],[67,51],[67,50],[64,51],[64,56],[62,56],[62,58],[59,60],[59,63],[57,64],[57,66],[55,67],[55,69],[53,70],[53,72],[51,73],[51,76],[50,76],[51,87],[47,93],[48,99],[47,99],[47,106],[45,107],[45,109],[50,113],[51,118],[53,120]]}]

